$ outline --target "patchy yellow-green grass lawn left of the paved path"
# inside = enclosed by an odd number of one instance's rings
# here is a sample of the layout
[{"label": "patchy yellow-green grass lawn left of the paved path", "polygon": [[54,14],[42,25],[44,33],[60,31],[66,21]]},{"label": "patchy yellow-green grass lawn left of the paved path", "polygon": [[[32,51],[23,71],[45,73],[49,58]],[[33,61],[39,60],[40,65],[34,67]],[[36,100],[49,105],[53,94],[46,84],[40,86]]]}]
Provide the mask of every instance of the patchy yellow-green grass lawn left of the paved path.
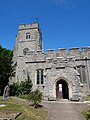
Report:
[{"label": "patchy yellow-green grass lawn left of the paved path", "polygon": [[21,112],[22,114],[16,118],[16,120],[47,120],[48,111],[42,108],[33,108],[28,102],[17,97],[10,98],[9,101],[2,101],[0,97],[0,104],[6,105],[0,107],[0,112],[5,113],[6,111]]}]

